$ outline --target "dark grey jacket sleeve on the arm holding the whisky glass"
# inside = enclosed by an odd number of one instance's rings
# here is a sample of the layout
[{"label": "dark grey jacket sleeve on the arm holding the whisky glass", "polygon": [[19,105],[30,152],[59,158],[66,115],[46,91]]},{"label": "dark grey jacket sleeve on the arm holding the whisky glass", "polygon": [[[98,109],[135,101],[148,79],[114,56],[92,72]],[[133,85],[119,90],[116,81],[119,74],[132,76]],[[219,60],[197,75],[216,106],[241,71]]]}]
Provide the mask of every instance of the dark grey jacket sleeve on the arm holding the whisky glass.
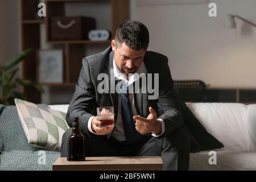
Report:
[{"label": "dark grey jacket sleeve on the arm holding the whisky glass", "polygon": [[90,136],[87,125],[89,118],[93,116],[91,113],[95,104],[95,89],[90,76],[90,68],[88,60],[84,58],[76,90],[68,107],[66,116],[68,125],[72,127],[73,117],[79,117],[81,130]]}]

